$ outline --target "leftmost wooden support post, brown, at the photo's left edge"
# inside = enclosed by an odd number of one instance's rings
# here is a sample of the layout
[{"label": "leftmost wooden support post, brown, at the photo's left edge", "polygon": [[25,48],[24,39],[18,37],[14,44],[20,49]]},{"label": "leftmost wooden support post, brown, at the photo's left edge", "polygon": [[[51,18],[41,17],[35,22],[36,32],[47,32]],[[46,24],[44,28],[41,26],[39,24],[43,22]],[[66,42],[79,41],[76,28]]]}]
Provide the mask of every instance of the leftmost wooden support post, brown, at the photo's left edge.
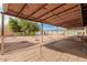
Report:
[{"label": "leftmost wooden support post, brown, at the photo's left edge", "polygon": [[4,53],[4,14],[1,14],[2,24],[1,24],[1,55]]}]

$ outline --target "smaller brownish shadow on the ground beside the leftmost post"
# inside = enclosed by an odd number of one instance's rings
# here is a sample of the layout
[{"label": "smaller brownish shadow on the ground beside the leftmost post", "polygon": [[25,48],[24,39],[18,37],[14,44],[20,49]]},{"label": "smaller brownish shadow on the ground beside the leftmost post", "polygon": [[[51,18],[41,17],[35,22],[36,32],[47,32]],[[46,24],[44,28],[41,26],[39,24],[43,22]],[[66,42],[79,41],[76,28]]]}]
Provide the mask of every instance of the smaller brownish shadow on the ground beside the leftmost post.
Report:
[{"label": "smaller brownish shadow on the ground beside the leftmost post", "polygon": [[4,43],[4,53],[18,51],[18,50],[21,50],[21,48],[31,47],[33,45],[35,45],[35,43],[31,43],[29,41]]}]

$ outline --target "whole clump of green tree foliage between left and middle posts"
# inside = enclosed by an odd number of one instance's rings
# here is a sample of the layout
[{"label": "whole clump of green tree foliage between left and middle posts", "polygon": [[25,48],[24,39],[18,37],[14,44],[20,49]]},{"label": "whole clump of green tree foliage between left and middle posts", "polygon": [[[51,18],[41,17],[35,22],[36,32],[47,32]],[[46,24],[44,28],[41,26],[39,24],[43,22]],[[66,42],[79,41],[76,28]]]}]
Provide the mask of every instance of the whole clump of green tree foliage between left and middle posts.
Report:
[{"label": "whole clump of green tree foliage between left and middle posts", "polygon": [[23,19],[12,19],[9,20],[9,26],[12,32],[19,32],[24,35],[35,35],[35,32],[40,31],[40,25],[35,22],[30,22]]}]

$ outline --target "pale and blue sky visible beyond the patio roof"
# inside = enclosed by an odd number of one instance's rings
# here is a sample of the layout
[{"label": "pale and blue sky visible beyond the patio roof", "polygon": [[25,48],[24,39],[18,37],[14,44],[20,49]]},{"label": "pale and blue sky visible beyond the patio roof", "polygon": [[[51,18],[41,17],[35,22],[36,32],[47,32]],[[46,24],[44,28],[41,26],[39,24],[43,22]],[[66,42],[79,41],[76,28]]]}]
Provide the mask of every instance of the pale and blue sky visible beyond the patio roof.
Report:
[{"label": "pale and blue sky visible beyond the patio roof", "polygon": [[[1,11],[2,11],[2,4],[0,3],[0,12]],[[4,15],[4,25],[8,25],[9,18],[13,17]],[[0,28],[1,28],[1,13],[0,13]],[[57,28],[50,24],[43,24],[43,30],[57,30]],[[62,30],[62,28],[59,28],[59,30]]]}]

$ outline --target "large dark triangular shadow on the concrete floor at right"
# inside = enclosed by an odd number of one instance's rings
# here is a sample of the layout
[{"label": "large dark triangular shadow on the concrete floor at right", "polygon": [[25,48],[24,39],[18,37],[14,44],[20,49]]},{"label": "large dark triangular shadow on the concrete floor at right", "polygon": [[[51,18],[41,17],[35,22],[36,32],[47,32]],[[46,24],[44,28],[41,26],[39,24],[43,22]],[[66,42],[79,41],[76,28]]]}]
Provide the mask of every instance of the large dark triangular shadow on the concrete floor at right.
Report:
[{"label": "large dark triangular shadow on the concrete floor at right", "polygon": [[[73,55],[76,55],[76,56],[79,56],[83,58],[87,58],[87,45],[81,44],[80,37],[69,36],[67,39],[53,41],[43,46],[57,51],[57,52],[68,53],[68,54],[73,54]],[[85,42],[85,43],[87,43],[87,42]],[[83,51],[84,48],[85,48],[85,51]]]}]

